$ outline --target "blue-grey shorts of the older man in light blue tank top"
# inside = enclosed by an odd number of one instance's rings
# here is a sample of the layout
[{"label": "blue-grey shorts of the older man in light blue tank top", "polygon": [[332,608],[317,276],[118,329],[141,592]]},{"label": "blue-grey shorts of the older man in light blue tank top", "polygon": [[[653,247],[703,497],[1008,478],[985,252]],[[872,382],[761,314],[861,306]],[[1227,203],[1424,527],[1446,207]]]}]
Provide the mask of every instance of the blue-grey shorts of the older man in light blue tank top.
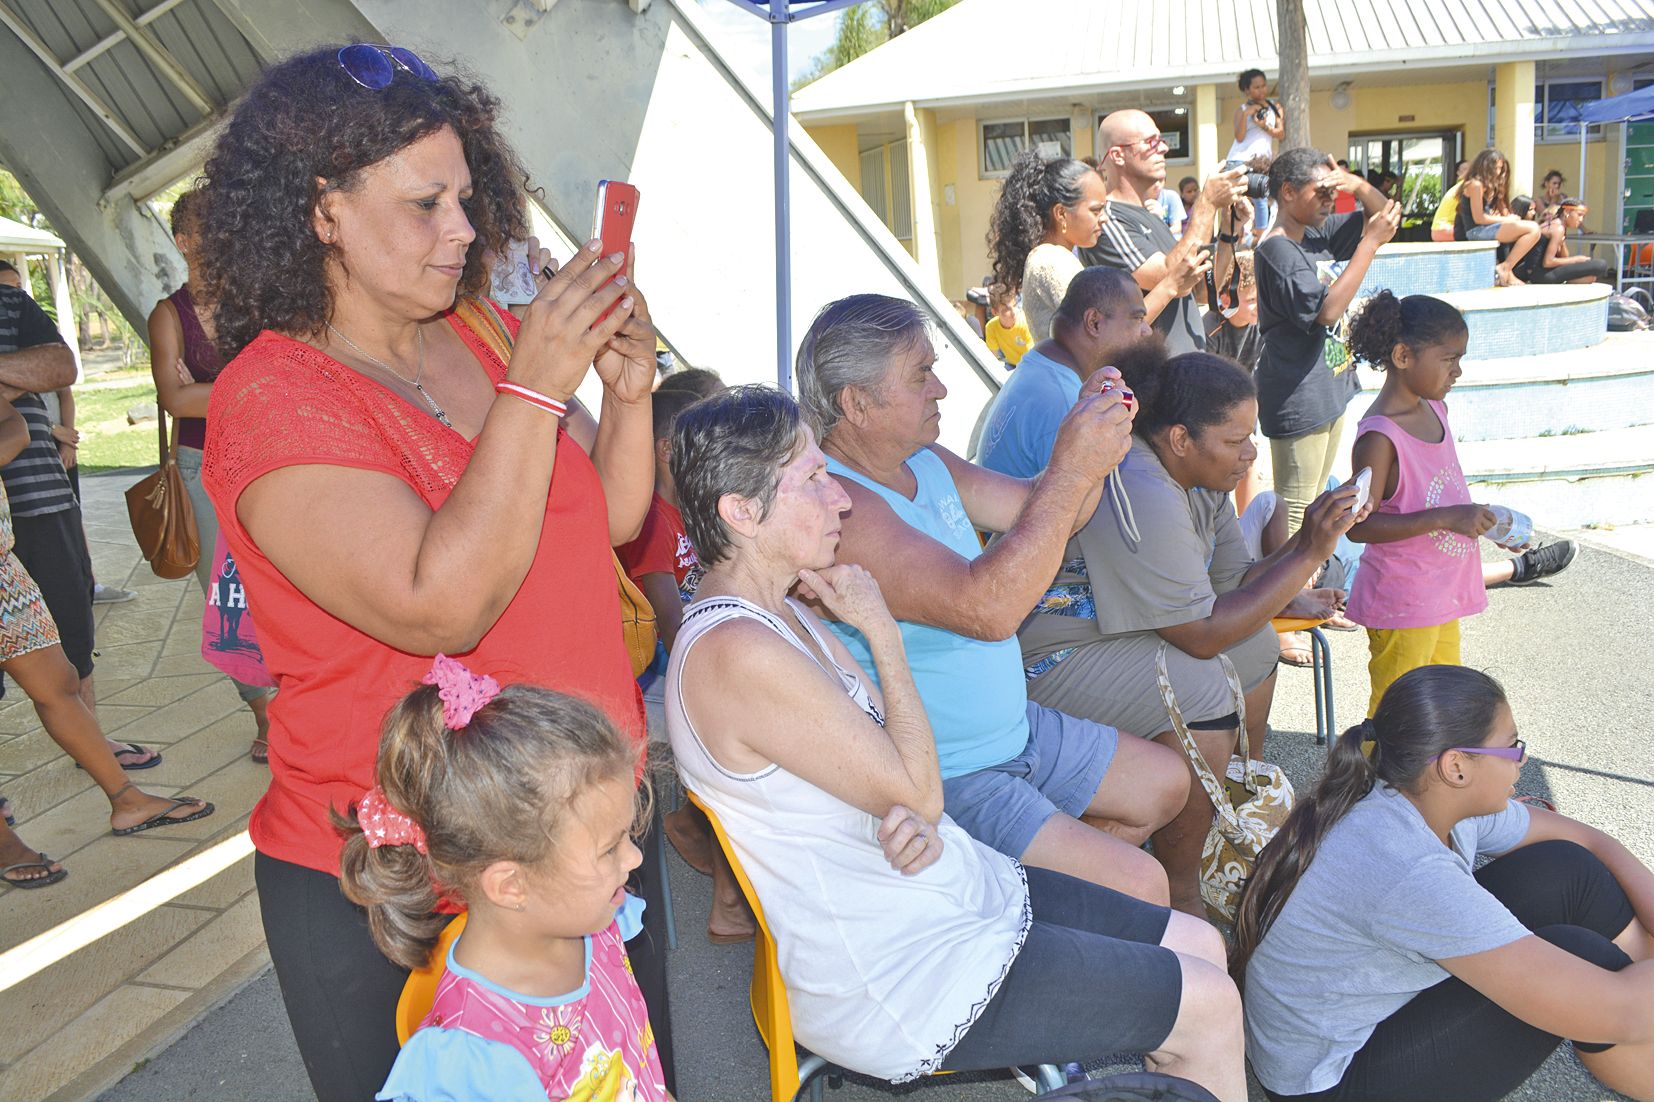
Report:
[{"label": "blue-grey shorts of the older man in light blue tank top", "polygon": [[941,783],[943,809],[964,832],[1021,859],[1059,811],[1075,819],[1092,804],[1115,759],[1111,726],[1029,702],[1029,743],[1011,761]]}]

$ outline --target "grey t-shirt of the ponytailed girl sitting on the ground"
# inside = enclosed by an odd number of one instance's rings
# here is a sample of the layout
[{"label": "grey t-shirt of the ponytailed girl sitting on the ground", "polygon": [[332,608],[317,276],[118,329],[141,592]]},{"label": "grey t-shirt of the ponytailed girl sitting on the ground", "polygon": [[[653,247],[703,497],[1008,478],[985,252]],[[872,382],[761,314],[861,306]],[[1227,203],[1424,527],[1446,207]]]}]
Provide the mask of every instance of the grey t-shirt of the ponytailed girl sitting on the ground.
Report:
[{"label": "grey t-shirt of the ponytailed girl sitting on the ground", "polygon": [[1475,882],[1477,854],[1522,844],[1528,809],[1465,819],[1452,849],[1378,784],[1340,819],[1245,970],[1245,1049],[1275,1094],[1335,1087],[1378,1023],[1447,978],[1437,960],[1528,935]]}]

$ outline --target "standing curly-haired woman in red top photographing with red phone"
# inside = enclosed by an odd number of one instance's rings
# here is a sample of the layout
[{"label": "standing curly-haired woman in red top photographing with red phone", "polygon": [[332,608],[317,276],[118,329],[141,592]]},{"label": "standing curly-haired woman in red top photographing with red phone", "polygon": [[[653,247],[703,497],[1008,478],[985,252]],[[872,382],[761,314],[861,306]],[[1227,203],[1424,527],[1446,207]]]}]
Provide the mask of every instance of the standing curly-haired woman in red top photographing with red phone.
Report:
[{"label": "standing curly-haired woman in red top photographing with red phone", "polygon": [[[584,697],[643,738],[609,548],[648,506],[655,333],[597,242],[521,329],[488,318],[516,334],[509,364],[455,313],[528,237],[496,114],[405,50],[331,46],[268,69],[205,169],[203,281],[233,356],[205,483],[280,690],[255,879],[324,1102],[379,1090],[405,978],[339,894],[329,814],[374,783],[380,721],[430,657]],[[552,410],[594,364],[587,457]]]}]

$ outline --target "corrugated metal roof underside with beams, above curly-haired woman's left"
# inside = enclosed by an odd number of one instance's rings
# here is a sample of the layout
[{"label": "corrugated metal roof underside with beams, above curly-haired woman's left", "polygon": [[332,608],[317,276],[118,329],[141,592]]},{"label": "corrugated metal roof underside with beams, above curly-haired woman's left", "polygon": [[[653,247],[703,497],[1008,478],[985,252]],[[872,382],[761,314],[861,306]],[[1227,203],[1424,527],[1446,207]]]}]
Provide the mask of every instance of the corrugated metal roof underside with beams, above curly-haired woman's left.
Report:
[{"label": "corrugated metal roof underside with beams, above curly-haired woman's left", "polygon": [[[114,2],[205,94],[207,111],[192,103],[177,81],[162,73],[96,0],[0,0],[51,58],[83,81],[86,91],[142,146],[134,149],[60,79],[58,93],[73,104],[103,152],[111,177],[225,108],[260,71],[246,38],[212,0]],[[10,33],[10,28],[0,26],[0,35]]]}]

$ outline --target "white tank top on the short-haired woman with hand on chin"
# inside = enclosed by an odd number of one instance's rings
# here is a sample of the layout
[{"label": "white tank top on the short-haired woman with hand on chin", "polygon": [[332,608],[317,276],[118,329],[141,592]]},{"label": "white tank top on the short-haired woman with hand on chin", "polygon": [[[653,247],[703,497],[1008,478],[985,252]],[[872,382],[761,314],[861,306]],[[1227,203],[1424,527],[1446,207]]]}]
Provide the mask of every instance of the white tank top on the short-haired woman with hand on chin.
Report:
[{"label": "white tank top on the short-haired woman with hand on chin", "polygon": [[[787,606],[845,693],[883,726],[858,672],[839,665],[802,606]],[[678,774],[718,812],[764,905],[799,1044],[893,1082],[928,1076],[1022,948],[1032,922],[1022,865],[943,816],[941,857],[905,877],[885,860],[873,816],[777,764],[758,773],[718,764],[683,712],[681,677],[696,640],[731,619],[759,620],[810,654],[772,614],[739,597],[691,604],[667,667],[667,733]],[[810,716],[776,720],[807,725]]]}]

